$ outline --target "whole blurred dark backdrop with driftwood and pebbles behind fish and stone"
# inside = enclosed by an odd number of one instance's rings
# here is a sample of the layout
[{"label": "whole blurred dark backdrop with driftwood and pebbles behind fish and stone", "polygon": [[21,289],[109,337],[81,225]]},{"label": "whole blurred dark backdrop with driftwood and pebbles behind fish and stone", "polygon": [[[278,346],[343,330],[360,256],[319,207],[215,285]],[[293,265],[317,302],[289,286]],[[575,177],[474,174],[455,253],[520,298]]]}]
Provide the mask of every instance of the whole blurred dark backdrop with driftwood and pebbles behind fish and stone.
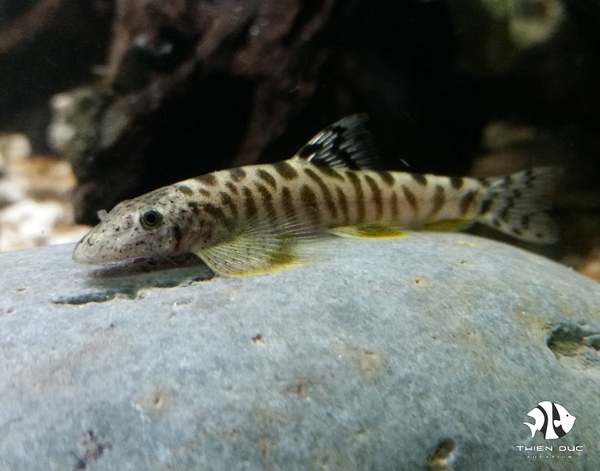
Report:
[{"label": "whole blurred dark backdrop with driftwood and pebbles behind fish and stone", "polygon": [[0,251],[356,112],[390,170],[564,168],[520,245],[600,281],[597,0],[0,0]]}]

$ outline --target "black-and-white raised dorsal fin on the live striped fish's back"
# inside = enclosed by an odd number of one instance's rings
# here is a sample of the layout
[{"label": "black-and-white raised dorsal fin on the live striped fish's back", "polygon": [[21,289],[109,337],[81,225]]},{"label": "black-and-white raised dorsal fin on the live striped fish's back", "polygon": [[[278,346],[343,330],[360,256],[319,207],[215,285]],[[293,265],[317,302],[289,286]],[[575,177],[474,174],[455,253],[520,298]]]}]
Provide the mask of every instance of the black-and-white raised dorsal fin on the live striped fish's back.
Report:
[{"label": "black-and-white raised dorsal fin on the live striped fish's back", "polygon": [[366,114],[354,114],[327,126],[313,137],[294,158],[315,165],[350,170],[381,167],[371,133],[364,128]]}]

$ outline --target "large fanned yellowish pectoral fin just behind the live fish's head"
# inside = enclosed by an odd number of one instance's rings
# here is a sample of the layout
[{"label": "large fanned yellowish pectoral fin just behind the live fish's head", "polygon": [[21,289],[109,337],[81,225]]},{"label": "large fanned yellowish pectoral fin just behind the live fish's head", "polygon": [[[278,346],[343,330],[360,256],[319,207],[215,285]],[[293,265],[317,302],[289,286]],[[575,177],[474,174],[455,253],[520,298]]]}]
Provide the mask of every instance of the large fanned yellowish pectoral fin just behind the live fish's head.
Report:
[{"label": "large fanned yellowish pectoral fin just behind the live fish's head", "polygon": [[296,216],[254,218],[229,240],[194,253],[221,276],[263,275],[306,264],[316,252],[307,243],[322,234],[315,221]]}]

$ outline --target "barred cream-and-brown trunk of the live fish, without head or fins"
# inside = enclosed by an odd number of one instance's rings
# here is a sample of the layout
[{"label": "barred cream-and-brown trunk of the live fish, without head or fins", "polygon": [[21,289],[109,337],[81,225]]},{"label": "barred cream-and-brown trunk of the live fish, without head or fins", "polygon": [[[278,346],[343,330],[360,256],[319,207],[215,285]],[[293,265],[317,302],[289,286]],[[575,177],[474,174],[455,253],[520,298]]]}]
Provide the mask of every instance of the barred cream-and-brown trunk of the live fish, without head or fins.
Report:
[{"label": "barred cream-and-brown trunk of the live fish, without head or fins", "polygon": [[[338,169],[294,158],[215,172],[176,184],[170,192],[188,196],[192,208],[211,205],[215,222],[225,226],[279,215],[326,229],[413,229],[473,220],[485,185],[470,178]],[[194,232],[198,223],[190,218]]]}]

